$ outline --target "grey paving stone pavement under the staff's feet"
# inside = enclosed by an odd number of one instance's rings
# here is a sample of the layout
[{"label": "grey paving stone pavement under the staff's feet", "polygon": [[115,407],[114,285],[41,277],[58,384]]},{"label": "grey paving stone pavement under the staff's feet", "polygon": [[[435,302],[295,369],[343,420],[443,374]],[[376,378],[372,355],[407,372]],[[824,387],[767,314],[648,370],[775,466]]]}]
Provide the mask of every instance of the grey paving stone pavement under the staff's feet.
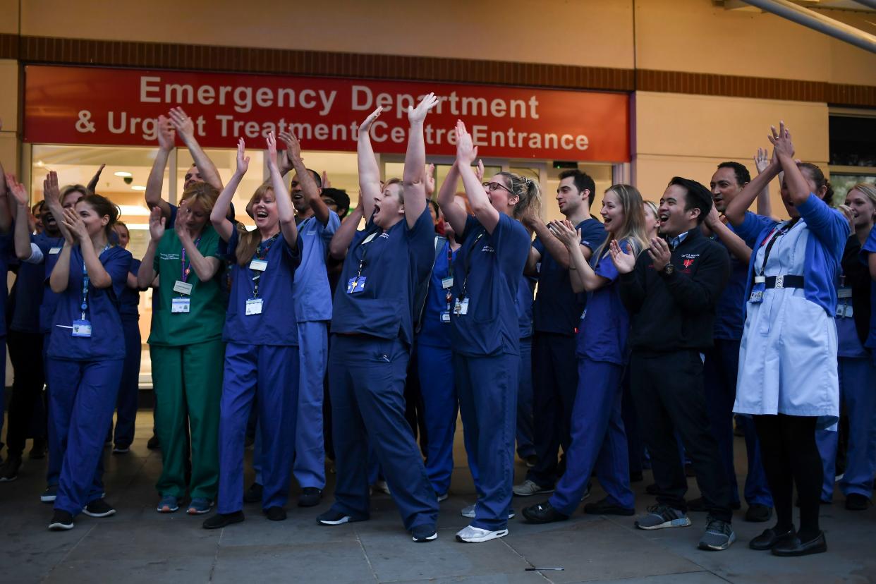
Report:
[{"label": "grey paving stone pavement under the staff's feet", "polygon": [[[331,503],[327,496],[315,508],[287,505],[289,518],[271,522],[258,504],[246,505],[246,521],[219,531],[201,529],[204,517],[155,512],[159,452],[150,452],[152,413],[140,412],[131,453],[107,454],[107,500],[114,517],[79,516],[71,531],[46,530],[51,506],[39,503],[45,488],[46,461],[27,461],[15,482],[0,483],[0,582],[624,582],[632,584],[699,584],[710,582],[871,582],[876,581],[876,511],[844,509],[837,489],[835,503],[824,505],[823,529],[829,552],[807,558],[782,559],[752,552],[749,539],[769,524],[747,524],[744,510],[733,526],[737,543],[724,552],[696,549],[703,513],[692,513],[685,529],[639,531],[632,517],[576,514],[567,522],[524,524],[514,519],[506,538],[484,544],[460,544],[454,534],[468,522],[459,511],[474,501],[474,489],[457,430],[456,471],[450,498],[441,503],[439,537],[414,544],[404,531],[392,497],[372,498],[371,520],[326,527],[315,517]],[[737,468],[745,468],[744,445],[738,439]],[[248,454],[249,455],[249,454]],[[525,466],[518,461],[517,481]],[[744,477],[740,477],[744,478]],[[246,484],[251,482],[248,473]],[[645,481],[633,484],[637,510],[653,503]],[[697,496],[691,479],[690,497]],[[595,482],[592,498],[604,496]],[[740,481],[741,484],[741,481]],[[544,497],[514,498],[514,508]],[[562,567],[562,571],[526,568]]]}]

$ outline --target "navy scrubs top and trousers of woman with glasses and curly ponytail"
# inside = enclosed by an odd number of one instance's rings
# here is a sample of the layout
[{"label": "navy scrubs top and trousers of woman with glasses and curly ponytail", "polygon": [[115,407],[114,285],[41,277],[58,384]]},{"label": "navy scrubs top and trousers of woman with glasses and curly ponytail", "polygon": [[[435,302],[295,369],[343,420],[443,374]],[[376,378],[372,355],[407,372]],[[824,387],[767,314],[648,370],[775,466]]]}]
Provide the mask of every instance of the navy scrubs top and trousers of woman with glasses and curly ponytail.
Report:
[{"label": "navy scrubs top and trousers of woman with glasses and curly ponytail", "polygon": [[456,390],[470,468],[477,468],[471,525],[498,531],[508,524],[514,477],[519,372],[517,294],[529,251],[519,222],[499,215],[492,233],[469,217],[459,236],[450,313]]}]

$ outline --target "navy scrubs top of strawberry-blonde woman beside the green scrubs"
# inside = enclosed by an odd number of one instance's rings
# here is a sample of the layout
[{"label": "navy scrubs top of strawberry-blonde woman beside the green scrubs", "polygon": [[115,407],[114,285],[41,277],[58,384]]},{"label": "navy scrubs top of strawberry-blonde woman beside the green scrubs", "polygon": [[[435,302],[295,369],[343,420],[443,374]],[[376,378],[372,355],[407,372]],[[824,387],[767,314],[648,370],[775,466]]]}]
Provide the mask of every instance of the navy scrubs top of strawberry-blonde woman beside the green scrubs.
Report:
[{"label": "navy scrubs top of strawberry-blonde woman beside the green scrubs", "polygon": [[[294,303],[289,302],[289,294],[295,269],[301,263],[300,236],[294,247],[286,243],[282,233],[259,243],[253,259],[265,260],[268,263],[265,271],[252,270],[249,262],[244,266],[237,264],[235,251],[239,241],[240,233],[234,229],[228,241],[228,259],[235,263],[231,271],[231,295],[223,341],[297,347],[298,320]],[[255,298],[262,299],[262,313],[247,314],[247,300]]]}]

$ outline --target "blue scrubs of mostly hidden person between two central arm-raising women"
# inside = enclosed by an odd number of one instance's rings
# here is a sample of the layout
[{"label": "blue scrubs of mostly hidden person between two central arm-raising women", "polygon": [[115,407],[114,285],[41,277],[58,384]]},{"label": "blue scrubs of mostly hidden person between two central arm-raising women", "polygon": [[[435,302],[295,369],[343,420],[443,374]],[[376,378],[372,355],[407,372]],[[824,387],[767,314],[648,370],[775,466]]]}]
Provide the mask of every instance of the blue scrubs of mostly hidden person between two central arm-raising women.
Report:
[{"label": "blue scrubs of mostly hidden person between two central arm-raising women", "polygon": [[423,308],[420,334],[417,335],[417,376],[423,398],[423,419],[428,443],[426,475],[436,495],[447,493],[453,473],[453,439],[459,398],[453,376],[453,350],[450,341],[450,293],[445,283],[456,251],[445,241],[435,255]]}]

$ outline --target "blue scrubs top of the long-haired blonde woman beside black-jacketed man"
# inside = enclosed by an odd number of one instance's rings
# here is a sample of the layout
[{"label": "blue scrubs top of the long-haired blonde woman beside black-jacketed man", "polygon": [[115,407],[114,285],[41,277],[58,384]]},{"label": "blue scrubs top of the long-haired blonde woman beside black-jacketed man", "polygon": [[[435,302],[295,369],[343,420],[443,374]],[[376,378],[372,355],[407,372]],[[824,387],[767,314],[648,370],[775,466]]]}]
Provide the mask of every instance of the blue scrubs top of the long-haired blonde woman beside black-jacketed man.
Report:
[{"label": "blue scrubs top of the long-haired blonde woman beside black-jacketed man", "polygon": [[[630,243],[624,240],[620,247],[628,251]],[[603,250],[602,257],[591,257],[590,265],[594,264],[593,271],[597,276],[610,282],[589,294],[587,311],[576,340],[576,355],[590,361],[623,365],[628,354],[626,339],[630,333],[630,316],[620,299],[618,269],[614,267],[608,250]]]}]

